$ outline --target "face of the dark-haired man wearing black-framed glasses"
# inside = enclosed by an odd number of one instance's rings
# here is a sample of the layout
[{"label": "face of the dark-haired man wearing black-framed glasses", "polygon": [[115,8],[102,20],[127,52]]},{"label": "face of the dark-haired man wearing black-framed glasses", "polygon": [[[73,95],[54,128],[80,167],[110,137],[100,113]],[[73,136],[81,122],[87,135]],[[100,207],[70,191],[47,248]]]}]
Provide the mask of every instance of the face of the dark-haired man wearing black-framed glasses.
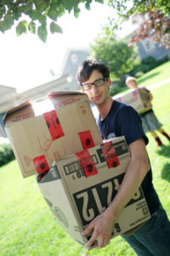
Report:
[{"label": "face of the dark-haired man wearing black-framed glasses", "polygon": [[[98,70],[94,70],[93,73],[91,73],[89,79],[82,84],[94,83],[96,80],[99,79],[104,79],[102,73],[99,73]],[[102,105],[108,98],[110,86],[111,79],[108,79],[105,81],[105,84],[100,85],[99,87],[96,87],[93,84],[92,89],[82,91],[88,95],[88,99],[90,100],[90,102],[93,102],[95,105],[99,106]]]}]

